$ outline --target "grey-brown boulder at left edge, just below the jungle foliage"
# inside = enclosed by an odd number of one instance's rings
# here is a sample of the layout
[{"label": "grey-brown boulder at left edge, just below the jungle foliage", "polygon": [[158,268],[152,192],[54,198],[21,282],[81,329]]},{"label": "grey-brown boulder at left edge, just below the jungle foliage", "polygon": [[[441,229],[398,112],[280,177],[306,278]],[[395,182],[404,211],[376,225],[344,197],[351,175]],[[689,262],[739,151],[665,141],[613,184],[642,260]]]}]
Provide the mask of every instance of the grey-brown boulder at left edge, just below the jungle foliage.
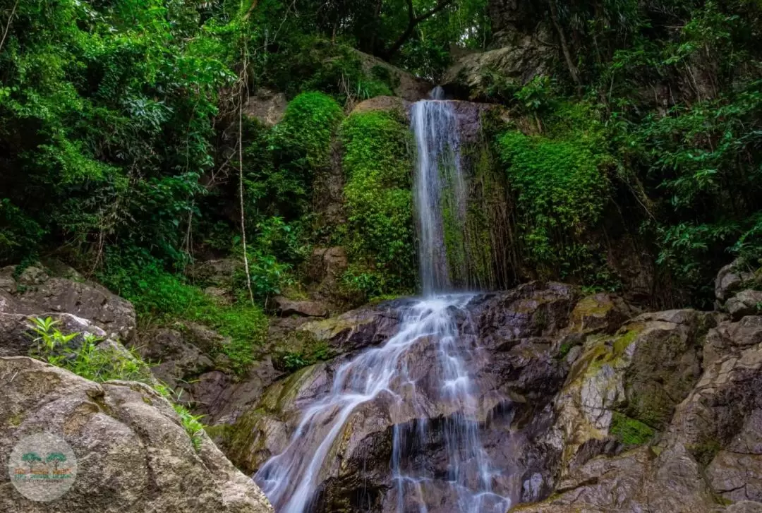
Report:
[{"label": "grey-brown boulder at left edge, just below the jungle foliage", "polygon": [[[78,276],[78,275],[75,275]],[[69,313],[88,319],[109,337],[130,340],[135,334],[132,303],[88,281],[51,276],[41,267],[16,273],[12,266],[0,269],[0,312],[46,316]]]}]

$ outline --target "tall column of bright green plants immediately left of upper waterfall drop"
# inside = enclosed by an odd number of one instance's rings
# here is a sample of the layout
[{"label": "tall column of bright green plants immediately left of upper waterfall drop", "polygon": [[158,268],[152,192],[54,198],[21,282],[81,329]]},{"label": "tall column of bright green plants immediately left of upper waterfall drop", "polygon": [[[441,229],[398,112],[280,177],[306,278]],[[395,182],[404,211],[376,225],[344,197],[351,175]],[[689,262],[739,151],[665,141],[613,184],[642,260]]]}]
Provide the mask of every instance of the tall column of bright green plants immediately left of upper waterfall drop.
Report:
[{"label": "tall column of bright green plants immediately left of upper waterfall drop", "polygon": [[398,114],[353,114],[341,126],[347,252],[344,284],[364,297],[415,286],[408,128]]}]

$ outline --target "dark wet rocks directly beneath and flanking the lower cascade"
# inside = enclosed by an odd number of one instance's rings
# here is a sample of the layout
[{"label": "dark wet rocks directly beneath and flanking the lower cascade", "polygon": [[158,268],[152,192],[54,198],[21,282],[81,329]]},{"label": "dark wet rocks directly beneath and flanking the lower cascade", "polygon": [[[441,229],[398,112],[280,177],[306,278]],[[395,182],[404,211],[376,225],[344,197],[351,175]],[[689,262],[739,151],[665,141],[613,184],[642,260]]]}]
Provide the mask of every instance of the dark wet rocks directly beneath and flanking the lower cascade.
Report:
[{"label": "dark wet rocks directly beneath and flanking the lower cascade", "polygon": [[[477,415],[485,448],[499,462],[498,467],[520,469],[520,473],[527,473],[527,479],[537,474],[547,483],[552,475],[548,461],[538,457],[533,442],[524,440],[533,439],[551,420],[550,400],[562,385],[568,364],[554,356],[557,351],[550,335],[568,325],[576,300],[572,287],[530,284],[508,293],[476,297],[458,320],[466,333],[463,344],[470,347],[479,339],[479,356],[472,364],[483,390]],[[405,301],[303,325],[300,329],[327,341],[341,356],[327,364],[306,367],[270,386],[258,405],[230,429],[226,454],[240,468],[253,472],[280,453],[300,413],[328,392],[338,367],[357,351],[383,343],[399,329],[399,311]],[[434,475],[442,476],[447,474],[447,425],[455,412],[437,406],[434,400],[439,393],[431,388],[437,380],[430,376],[431,361],[436,358],[435,341],[423,339],[414,351],[408,371],[411,377],[418,377],[416,393],[431,398],[423,400],[429,405],[425,422],[430,428],[436,427],[431,440],[411,457],[428,458]],[[389,415],[389,404],[383,397],[358,407],[331,449],[341,454],[341,464],[322,474],[320,511],[367,511],[363,505],[368,504],[370,511],[395,511],[389,475],[392,434],[395,429],[415,430],[422,420],[418,415],[420,412],[404,408]],[[523,429],[512,433],[511,424],[523,425]],[[515,450],[522,444],[530,450]],[[521,486],[517,481],[517,498]],[[539,486],[546,491],[546,485]],[[452,506],[444,502],[436,511],[447,511],[447,504]]]}]

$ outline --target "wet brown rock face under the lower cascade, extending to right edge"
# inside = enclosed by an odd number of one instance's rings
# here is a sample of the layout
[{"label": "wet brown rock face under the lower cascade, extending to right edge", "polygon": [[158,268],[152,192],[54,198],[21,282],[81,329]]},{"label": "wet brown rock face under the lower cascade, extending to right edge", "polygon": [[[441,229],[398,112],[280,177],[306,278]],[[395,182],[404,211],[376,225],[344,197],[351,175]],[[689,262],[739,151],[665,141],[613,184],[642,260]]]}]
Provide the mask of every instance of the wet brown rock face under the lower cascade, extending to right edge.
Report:
[{"label": "wet brown rock face under the lower cascade, extending to right edge", "polygon": [[[229,457],[254,473],[279,454],[341,364],[399,329],[406,301],[300,325],[338,357],[267,386],[229,428]],[[732,311],[641,313],[615,294],[581,297],[561,284],[473,298],[457,317],[459,343],[483,351],[469,362],[481,390],[479,437],[514,509],[760,511],[762,316]],[[428,344],[415,349],[421,368],[408,369],[421,375],[419,396],[434,396]],[[446,475],[450,415],[436,402],[422,418],[389,415],[382,400],[358,406],[331,447],[335,464],[320,473],[319,511],[396,511],[392,436],[421,419],[431,436],[409,457]]]}]

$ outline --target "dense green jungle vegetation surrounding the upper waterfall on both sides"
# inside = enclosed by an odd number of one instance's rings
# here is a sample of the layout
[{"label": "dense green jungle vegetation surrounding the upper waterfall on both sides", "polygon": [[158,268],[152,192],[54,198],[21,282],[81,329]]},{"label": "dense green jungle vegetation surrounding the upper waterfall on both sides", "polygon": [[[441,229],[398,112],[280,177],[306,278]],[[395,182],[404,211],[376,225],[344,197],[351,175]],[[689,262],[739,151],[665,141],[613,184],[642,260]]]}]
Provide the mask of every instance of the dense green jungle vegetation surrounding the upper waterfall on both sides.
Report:
[{"label": "dense green jungle vegetation surrounding the upper waterfall on both sides", "polygon": [[[511,113],[485,123],[511,280],[622,289],[607,258],[620,246],[652,268],[646,300],[708,306],[719,267],[762,256],[762,3],[517,4],[517,30],[549,27],[549,66],[526,82],[485,70],[471,94]],[[241,340],[263,334],[268,298],[299,288],[315,245],[347,248],[349,303],[414,292],[404,114],[347,117],[398,79],[357,50],[434,85],[462,53],[499,46],[501,9],[0,0],[0,264],[53,255],[146,319]],[[274,127],[242,114],[261,88],[290,100]],[[338,225],[313,207],[315,177],[337,159]],[[219,255],[247,262],[233,306],[184,275]]]}]

